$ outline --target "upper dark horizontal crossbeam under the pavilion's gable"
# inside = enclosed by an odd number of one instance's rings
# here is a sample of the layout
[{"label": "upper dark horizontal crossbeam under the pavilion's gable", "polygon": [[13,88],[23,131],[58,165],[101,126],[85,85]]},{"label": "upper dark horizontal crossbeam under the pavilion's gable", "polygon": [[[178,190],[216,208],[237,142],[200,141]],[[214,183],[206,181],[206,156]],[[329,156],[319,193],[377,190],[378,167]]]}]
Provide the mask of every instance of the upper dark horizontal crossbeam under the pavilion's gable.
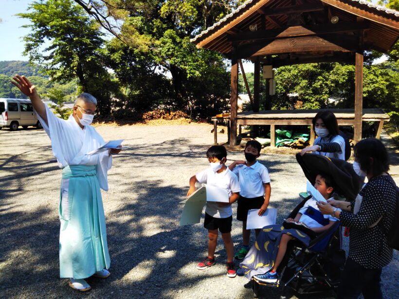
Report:
[{"label": "upper dark horizontal crossbeam under the pavilion's gable", "polygon": [[246,41],[246,40],[263,40],[263,39],[279,39],[287,37],[302,37],[315,35],[339,34],[345,32],[354,32],[367,29],[369,26],[363,22],[342,22],[339,24],[319,24],[310,26],[292,26],[273,30],[259,30],[240,32],[235,35],[227,36],[227,41]]}]

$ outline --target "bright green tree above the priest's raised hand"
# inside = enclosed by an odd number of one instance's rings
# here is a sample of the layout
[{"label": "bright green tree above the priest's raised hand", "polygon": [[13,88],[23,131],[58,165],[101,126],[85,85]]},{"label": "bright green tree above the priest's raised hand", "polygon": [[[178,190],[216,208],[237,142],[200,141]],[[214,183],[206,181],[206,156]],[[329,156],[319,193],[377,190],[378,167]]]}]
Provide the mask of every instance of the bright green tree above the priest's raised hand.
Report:
[{"label": "bright green tree above the priest's raised hand", "polygon": [[108,114],[111,95],[102,88],[110,78],[102,64],[104,41],[99,25],[72,0],[38,0],[29,10],[18,16],[32,23],[25,25],[31,33],[24,37],[24,53],[30,61],[38,63],[54,82],[77,78],[79,91],[95,96],[100,114]]}]

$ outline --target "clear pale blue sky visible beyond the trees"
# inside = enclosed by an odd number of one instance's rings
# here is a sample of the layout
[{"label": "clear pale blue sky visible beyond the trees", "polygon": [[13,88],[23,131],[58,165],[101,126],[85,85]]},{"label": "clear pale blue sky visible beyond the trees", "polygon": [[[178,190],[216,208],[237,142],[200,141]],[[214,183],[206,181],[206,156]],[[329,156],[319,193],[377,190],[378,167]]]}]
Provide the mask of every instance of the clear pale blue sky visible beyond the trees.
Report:
[{"label": "clear pale blue sky visible beyond the trees", "polygon": [[[1,0],[0,61],[28,60],[28,57],[22,55],[24,50],[22,37],[28,34],[30,29],[21,28],[21,26],[29,24],[29,21],[15,15],[26,12],[29,3],[32,2],[33,0]],[[373,2],[377,2],[377,0],[373,0]]]}]

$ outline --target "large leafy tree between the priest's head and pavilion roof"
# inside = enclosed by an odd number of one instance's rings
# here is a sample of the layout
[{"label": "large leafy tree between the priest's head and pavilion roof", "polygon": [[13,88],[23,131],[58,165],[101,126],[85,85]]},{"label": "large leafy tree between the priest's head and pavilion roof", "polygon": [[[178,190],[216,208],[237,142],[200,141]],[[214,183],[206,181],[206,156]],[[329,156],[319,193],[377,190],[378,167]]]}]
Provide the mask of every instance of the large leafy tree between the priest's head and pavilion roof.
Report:
[{"label": "large leafy tree between the priest's head and pavilion roof", "polygon": [[[191,105],[189,103],[196,100],[191,98],[193,95],[199,96],[197,99],[200,99],[206,93],[218,93],[218,90],[208,90],[198,95],[198,90],[193,90],[195,87],[189,83],[190,80],[195,80],[192,79],[194,77],[205,82],[206,76],[214,77],[220,74],[220,69],[213,68],[212,65],[219,66],[224,58],[218,53],[196,49],[190,42],[190,37],[194,37],[200,30],[227,14],[233,7],[232,2],[227,0],[89,0],[87,2],[75,0],[75,2],[116,36],[107,50],[111,58],[115,59],[109,65],[115,66],[121,62],[120,57],[128,59],[122,60],[125,66],[116,69],[112,67],[116,77],[122,82],[125,81],[124,77],[134,78],[135,81],[140,78],[149,81],[159,80],[159,87],[166,92],[160,102],[167,102],[175,109],[187,109]],[[172,77],[171,84],[167,84],[159,75],[154,74],[156,69],[169,72]],[[225,67],[223,69],[225,72]],[[216,73],[210,75],[210,70]],[[138,73],[141,76],[137,77]],[[137,83],[139,89],[142,89],[143,83]],[[212,82],[209,82],[209,85],[212,85]],[[131,82],[129,86],[132,87]],[[225,94],[229,89],[223,90],[222,93]],[[138,94],[142,94],[143,91],[139,91]],[[224,99],[218,100],[224,101]]]}]

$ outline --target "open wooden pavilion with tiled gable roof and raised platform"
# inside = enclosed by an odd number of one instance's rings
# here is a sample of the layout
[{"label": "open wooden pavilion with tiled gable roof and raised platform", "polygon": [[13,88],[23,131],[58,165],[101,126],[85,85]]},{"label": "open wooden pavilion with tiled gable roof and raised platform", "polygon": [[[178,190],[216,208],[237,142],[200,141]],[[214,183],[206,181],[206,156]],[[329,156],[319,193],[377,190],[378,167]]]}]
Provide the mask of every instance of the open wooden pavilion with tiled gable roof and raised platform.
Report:
[{"label": "open wooden pavilion with tiled gable roof and raised platform", "polygon": [[[191,41],[197,48],[223,53],[231,59],[229,140],[230,145],[235,145],[237,120],[238,124],[271,124],[273,139],[274,124],[310,124],[316,112],[308,111],[308,117],[301,120],[295,115],[303,115],[303,110],[286,110],[283,118],[276,111],[259,112],[261,65],[278,68],[315,62],[355,64],[354,110],[350,115],[346,109],[345,120],[339,118],[338,122],[354,125],[355,141],[362,138],[363,120],[379,120],[381,132],[386,120],[382,110],[383,116],[373,111],[370,118],[368,111],[369,117],[364,118],[367,111],[363,111],[363,53],[368,50],[386,53],[398,37],[399,12],[366,0],[247,0]],[[254,111],[237,118],[241,59],[254,63],[253,99],[250,96]],[[271,109],[270,100],[268,103]],[[286,114],[291,116],[287,118]]]}]

